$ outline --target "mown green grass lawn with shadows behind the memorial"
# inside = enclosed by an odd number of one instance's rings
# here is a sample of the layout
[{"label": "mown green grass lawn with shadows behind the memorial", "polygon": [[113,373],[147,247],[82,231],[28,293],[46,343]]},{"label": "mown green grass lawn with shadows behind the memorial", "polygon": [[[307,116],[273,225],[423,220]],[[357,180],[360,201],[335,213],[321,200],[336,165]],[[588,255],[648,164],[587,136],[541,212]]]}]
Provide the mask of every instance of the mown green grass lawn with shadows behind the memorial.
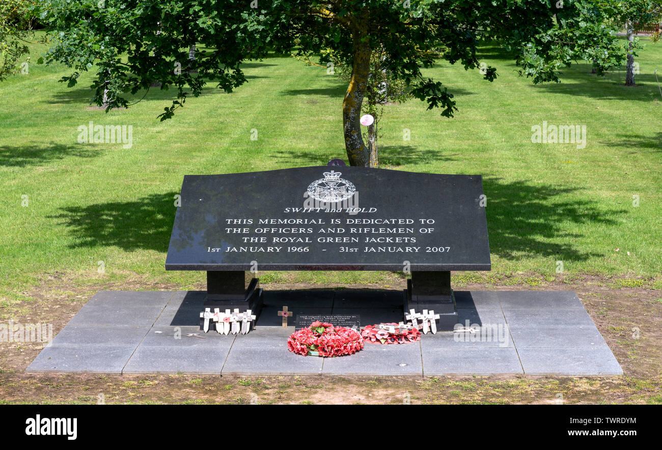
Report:
[{"label": "mown green grass lawn with shadows behind the memorial", "polygon": [[[32,60],[43,51],[33,46]],[[661,287],[662,98],[653,70],[662,70],[662,44],[641,52],[639,86],[630,88],[622,71],[598,79],[584,62],[565,71],[561,84],[533,85],[497,48],[481,54],[498,69],[493,83],[448,64],[426,73],[455,94],[455,118],[415,100],[386,107],[382,167],[483,175],[488,280],[594,274]],[[338,79],[293,58],[248,62],[245,72],[249,83],[235,93],[211,85],[166,122],[156,116],[173,91],[152,88],[129,109],[106,113],[89,108],[89,74],[71,89],[58,83],[69,73],[64,66],[30,64],[28,75],[0,84],[0,298],[26,298],[26,289],[49,276],[190,286],[203,273],[164,269],[183,175],[346,159]],[[89,121],[131,125],[132,148],[78,144],[77,128]],[[585,125],[585,148],[532,143],[532,126],[544,121]],[[252,128],[258,140],[250,139]],[[405,128],[410,140],[402,138]],[[28,206],[21,206],[24,195]],[[388,276],[266,273],[263,281]]]}]

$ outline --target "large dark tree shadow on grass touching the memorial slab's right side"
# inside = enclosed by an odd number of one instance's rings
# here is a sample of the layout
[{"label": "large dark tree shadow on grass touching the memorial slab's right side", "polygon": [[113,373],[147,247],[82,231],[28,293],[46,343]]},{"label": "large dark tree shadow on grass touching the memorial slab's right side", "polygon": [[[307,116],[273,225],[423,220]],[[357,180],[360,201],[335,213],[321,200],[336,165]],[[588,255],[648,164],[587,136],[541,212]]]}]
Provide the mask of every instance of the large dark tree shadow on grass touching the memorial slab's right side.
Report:
[{"label": "large dark tree shadow on grass touching the memorial slab's right side", "polygon": [[[603,257],[604,253],[580,248],[579,242],[594,232],[592,224],[618,226],[618,217],[627,213],[625,209],[607,210],[598,207],[595,201],[571,197],[579,191],[576,188],[504,182],[501,178],[488,177],[483,179],[483,189],[487,197],[490,251],[504,259],[543,256],[554,264]],[[569,233],[568,222],[585,227],[581,233]]]}]

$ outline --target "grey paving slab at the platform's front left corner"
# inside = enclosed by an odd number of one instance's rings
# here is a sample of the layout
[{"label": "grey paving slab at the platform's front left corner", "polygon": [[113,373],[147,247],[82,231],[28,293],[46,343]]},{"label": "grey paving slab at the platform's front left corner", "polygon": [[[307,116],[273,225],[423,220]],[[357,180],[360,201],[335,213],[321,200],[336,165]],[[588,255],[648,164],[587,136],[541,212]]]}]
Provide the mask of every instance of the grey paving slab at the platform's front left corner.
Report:
[{"label": "grey paving slab at the platform's front left corner", "polygon": [[122,373],[135,345],[50,345],[26,372]]}]

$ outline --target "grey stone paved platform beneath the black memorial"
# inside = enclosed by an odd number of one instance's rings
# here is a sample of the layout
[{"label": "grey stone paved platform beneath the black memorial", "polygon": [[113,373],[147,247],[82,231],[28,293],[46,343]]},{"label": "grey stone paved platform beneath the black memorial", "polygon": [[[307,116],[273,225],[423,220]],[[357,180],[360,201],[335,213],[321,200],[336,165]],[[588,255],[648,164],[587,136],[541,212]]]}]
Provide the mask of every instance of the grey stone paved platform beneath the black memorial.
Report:
[{"label": "grey stone paved platform beneath the black memorial", "polygon": [[[456,291],[460,323],[405,345],[366,344],[352,356],[287,350],[283,305],[297,314],[359,314],[361,324],[402,320],[401,291],[265,291],[246,335],[199,330],[204,291],[100,291],[32,361],[30,373],[205,375],[622,375],[612,351],[570,291]],[[290,323],[294,324],[293,318]],[[199,337],[187,337],[197,334]],[[177,338],[179,336],[179,338]],[[463,337],[463,339],[459,339]]]}]

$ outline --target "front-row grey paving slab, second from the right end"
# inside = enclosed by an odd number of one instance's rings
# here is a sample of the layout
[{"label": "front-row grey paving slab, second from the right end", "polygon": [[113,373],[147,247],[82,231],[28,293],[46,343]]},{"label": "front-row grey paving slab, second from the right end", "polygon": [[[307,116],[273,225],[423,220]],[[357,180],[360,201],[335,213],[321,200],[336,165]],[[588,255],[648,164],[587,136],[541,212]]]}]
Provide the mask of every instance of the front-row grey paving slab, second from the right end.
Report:
[{"label": "front-row grey paving slab, second from the right end", "polygon": [[423,375],[522,375],[514,348],[423,347]]}]

